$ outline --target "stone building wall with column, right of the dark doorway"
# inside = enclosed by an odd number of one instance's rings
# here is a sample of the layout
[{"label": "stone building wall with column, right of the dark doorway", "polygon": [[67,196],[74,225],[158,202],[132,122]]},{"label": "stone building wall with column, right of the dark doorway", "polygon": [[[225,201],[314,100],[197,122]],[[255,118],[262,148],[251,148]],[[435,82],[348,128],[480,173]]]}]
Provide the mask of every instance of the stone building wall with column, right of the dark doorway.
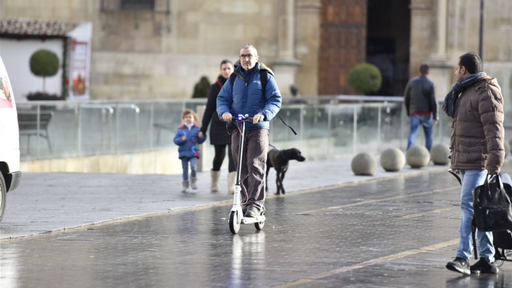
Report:
[{"label": "stone building wall with column, right of the dark doorway", "polygon": [[[410,73],[418,74],[420,63],[429,63],[437,97],[442,98],[455,81],[458,57],[468,51],[479,53],[480,0],[411,2]],[[512,2],[484,3],[483,69],[498,79],[507,103],[512,100]]]}]

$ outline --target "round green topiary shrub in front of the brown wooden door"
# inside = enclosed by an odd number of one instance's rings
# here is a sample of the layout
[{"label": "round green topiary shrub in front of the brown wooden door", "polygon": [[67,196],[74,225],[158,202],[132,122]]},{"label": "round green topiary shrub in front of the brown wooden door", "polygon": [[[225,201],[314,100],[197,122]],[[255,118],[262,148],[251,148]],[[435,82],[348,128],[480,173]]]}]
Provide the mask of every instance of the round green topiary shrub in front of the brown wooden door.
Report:
[{"label": "round green topiary shrub in front of the brown wooden door", "polygon": [[380,89],[382,75],[380,70],[373,64],[357,64],[349,74],[349,85],[355,92],[370,94]]}]

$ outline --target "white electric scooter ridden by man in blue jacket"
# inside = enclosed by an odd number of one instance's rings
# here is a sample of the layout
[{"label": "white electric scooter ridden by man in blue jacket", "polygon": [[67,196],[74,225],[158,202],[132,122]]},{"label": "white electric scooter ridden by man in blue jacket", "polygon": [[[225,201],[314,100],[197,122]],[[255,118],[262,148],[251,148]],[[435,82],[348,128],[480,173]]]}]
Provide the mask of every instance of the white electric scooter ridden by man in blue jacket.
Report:
[{"label": "white electric scooter ridden by man in blue jacket", "polygon": [[229,212],[229,230],[233,234],[237,234],[240,230],[241,224],[254,223],[254,227],[257,230],[262,230],[265,225],[265,208],[260,211],[260,214],[256,217],[245,217],[242,211],[242,183],[241,183],[241,171],[242,171],[242,152],[244,144],[245,134],[245,122],[252,122],[252,118],[248,115],[238,115],[233,120],[240,129],[240,143],[238,148],[238,163],[237,163],[237,184],[234,186],[233,195],[233,207]]}]

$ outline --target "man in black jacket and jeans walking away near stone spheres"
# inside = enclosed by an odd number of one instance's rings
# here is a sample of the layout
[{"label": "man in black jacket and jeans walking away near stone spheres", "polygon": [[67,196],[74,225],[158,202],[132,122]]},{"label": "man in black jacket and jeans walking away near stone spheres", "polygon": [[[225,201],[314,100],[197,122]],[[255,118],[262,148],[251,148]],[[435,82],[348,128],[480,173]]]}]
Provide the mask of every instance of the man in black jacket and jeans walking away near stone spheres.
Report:
[{"label": "man in black jacket and jeans walking away near stone spheres", "polygon": [[425,146],[430,151],[432,149],[432,127],[437,123],[437,102],[434,83],[426,77],[429,75],[429,65],[421,64],[419,72],[419,76],[407,83],[404,93],[407,116],[411,118],[407,149],[414,146],[421,125],[425,132]]}]

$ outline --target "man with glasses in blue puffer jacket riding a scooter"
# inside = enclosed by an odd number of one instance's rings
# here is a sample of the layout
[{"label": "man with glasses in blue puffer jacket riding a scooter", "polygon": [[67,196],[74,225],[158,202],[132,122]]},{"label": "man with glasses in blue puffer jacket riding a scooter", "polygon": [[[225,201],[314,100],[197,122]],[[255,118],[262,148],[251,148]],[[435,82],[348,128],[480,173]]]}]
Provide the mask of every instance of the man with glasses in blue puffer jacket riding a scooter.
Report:
[{"label": "man with glasses in blue puffer jacket riding a scooter", "polygon": [[[219,118],[229,122],[233,115],[249,115],[252,123],[246,123],[242,153],[241,180],[248,200],[246,217],[255,217],[265,202],[265,172],[268,149],[269,121],[281,109],[281,93],[270,69],[258,62],[258,51],[252,45],[240,50],[240,65],[234,70],[233,83],[228,79],[217,97]],[[265,93],[262,91],[260,70],[267,70]],[[234,161],[238,163],[240,132],[231,138]]]}]

